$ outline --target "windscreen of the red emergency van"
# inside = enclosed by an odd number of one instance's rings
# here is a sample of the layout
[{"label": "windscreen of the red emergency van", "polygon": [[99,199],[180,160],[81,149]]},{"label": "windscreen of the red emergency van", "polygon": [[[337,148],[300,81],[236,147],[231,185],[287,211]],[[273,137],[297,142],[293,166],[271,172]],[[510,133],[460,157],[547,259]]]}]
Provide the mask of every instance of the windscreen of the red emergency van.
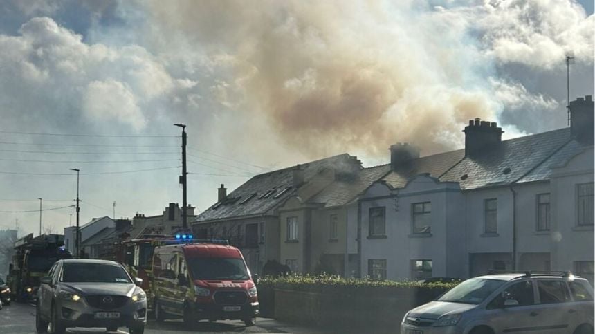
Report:
[{"label": "windscreen of the red emergency van", "polygon": [[188,259],[192,278],[204,280],[246,280],[248,270],[239,258],[194,257]]}]

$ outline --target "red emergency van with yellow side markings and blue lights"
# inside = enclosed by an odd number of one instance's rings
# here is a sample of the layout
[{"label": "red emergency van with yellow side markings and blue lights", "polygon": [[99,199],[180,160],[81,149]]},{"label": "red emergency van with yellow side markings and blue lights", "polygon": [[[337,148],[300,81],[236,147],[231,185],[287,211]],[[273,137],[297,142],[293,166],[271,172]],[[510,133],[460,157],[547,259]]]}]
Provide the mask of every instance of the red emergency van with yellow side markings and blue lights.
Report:
[{"label": "red emergency van with yellow side markings and blue lights", "polygon": [[253,326],[259,312],[257,275],[241,252],[226,243],[158,246],[153,254],[154,317],[199,320],[239,319]]}]

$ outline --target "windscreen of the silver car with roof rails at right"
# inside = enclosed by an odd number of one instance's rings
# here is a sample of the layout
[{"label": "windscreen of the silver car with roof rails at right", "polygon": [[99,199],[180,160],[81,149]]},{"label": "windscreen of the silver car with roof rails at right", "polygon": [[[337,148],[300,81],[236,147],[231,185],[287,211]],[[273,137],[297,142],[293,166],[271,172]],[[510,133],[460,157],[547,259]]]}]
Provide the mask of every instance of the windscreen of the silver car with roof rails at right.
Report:
[{"label": "windscreen of the silver car with roof rails at right", "polygon": [[498,279],[468,279],[449,290],[437,300],[450,301],[452,303],[481,304],[482,301],[504,283],[506,281],[500,281]]}]

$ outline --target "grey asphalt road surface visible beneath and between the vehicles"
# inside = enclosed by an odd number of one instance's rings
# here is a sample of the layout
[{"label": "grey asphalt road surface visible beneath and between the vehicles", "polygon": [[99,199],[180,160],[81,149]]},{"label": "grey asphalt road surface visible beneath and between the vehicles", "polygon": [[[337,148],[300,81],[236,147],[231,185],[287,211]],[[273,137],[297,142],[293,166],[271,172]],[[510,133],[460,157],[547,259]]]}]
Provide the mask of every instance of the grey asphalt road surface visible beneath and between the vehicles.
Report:
[{"label": "grey asphalt road surface visible beneath and between the vehicles", "polygon": [[[12,303],[0,310],[0,333],[33,334],[35,331],[35,306]],[[69,334],[108,333],[102,328],[68,328]],[[112,332],[113,333],[113,332]],[[120,334],[128,333],[127,328],[120,328]],[[180,321],[166,321],[163,324],[149,321],[145,328],[147,334],[181,334],[181,333],[329,333],[313,328],[304,328],[277,322],[275,319],[257,319],[256,326],[246,327],[244,322],[199,322],[195,328],[185,328]]]}]

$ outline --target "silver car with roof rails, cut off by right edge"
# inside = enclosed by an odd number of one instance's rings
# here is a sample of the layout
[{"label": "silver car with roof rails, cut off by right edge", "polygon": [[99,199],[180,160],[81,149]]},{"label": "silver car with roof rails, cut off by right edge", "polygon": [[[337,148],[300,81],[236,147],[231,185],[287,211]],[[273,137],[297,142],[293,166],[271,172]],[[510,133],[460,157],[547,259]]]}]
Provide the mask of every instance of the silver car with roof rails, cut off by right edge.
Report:
[{"label": "silver car with roof rails, cut off by right edge", "polygon": [[593,288],[570,273],[468,279],[410,310],[401,334],[593,333]]}]

